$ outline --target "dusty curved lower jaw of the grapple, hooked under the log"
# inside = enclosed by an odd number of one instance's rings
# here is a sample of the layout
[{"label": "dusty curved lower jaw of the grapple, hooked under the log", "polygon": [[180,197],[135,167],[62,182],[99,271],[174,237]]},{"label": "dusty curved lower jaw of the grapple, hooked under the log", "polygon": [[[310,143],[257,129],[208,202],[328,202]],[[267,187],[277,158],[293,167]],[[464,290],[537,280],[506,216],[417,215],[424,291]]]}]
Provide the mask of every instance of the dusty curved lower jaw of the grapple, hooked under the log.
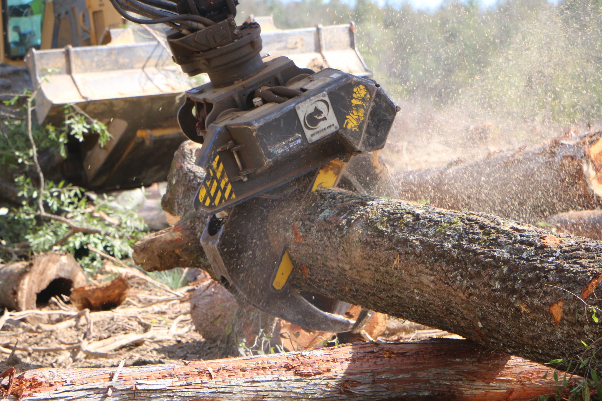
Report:
[{"label": "dusty curved lower jaw of the grapple, hooked under the log", "polygon": [[[299,195],[297,192],[291,196]],[[201,237],[205,254],[222,284],[239,301],[304,328],[350,331],[355,322],[309,303],[288,285],[288,275],[278,281],[282,275],[279,267],[284,266],[288,273],[293,268],[284,250],[286,227],[280,222],[281,213],[290,213],[295,203],[256,197],[234,207],[222,221],[209,218]]]}]

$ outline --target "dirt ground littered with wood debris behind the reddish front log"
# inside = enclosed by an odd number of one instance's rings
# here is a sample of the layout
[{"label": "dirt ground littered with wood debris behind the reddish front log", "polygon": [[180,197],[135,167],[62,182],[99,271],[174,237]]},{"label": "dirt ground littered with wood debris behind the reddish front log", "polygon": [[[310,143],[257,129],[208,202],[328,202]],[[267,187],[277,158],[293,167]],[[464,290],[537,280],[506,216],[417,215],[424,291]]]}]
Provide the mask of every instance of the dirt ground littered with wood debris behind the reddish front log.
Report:
[{"label": "dirt ground littered with wood debris behind the reddish front log", "polygon": [[[116,277],[115,269],[113,265],[90,284],[106,284]],[[220,357],[222,345],[205,340],[190,317],[190,297],[202,280],[173,291],[133,268],[129,272],[136,274],[120,272],[130,289],[125,301],[112,310],[76,316],[79,310],[68,297],[55,296],[37,311],[0,316],[0,372],[10,367],[23,372],[40,367],[116,367],[123,360],[125,366],[140,366]],[[386,338],[380,340],[460,338],[394,318],[388,318],[387,329]]]}]

